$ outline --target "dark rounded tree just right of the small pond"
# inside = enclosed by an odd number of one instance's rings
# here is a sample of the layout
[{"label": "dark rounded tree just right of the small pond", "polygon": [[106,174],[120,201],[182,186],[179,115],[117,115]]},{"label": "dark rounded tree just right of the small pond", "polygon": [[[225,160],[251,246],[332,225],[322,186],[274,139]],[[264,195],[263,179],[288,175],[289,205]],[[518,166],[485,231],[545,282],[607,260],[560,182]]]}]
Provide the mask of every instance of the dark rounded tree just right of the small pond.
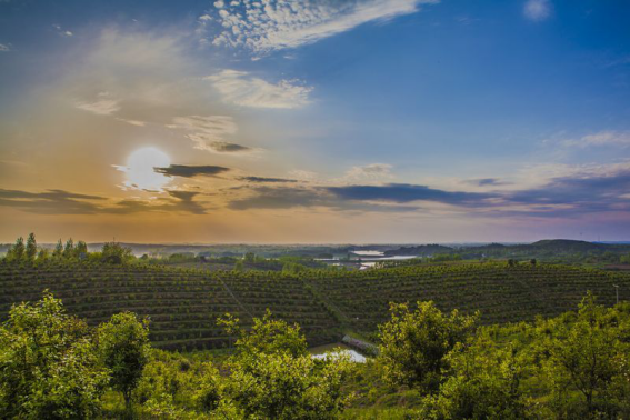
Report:
[{"label": "dark rounded tree just right of the small pond", "polygon": [[379,362],[383,379],[391,384],[419,386],[436,390],[446,367],[444,357],[473,330],[478,316],[444,316],[432,301],[390,303],[391,319],[379,326]]}]

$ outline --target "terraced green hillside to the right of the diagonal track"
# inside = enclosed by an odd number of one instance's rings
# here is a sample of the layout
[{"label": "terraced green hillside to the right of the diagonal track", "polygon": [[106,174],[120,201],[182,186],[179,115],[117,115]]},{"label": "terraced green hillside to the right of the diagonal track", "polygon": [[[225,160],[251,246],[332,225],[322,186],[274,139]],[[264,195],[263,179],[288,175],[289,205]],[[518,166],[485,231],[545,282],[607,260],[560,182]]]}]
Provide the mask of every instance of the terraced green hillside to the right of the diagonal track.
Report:
[{"label": "terraced green hillside to the right of the diagonal track", "polygon": [[504,263],[411,266],[310,279],[352,329],[374,331],[389,302],[433,300],[442,310],[481,311],[483,323],[532,320],[574,310],[588,290],[600,303],[630,299],[630,276],[568,266]]}]

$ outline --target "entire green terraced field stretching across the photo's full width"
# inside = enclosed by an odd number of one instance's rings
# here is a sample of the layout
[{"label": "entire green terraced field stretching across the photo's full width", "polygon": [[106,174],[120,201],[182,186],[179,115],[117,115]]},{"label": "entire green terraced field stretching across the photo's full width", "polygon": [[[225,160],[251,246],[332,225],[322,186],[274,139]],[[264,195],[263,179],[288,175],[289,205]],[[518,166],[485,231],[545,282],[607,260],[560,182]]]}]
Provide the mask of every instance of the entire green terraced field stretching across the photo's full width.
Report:
[{"label": "entire green terraced field stretching across the photo's full width", "polygon": [[163,267],[0,262],[0,318],[12,303],[49,289],[70,312],[96,324],[120,311],[151,320],[151,339],[167,349],[209,349],[230,338],[216,323],[226,312],[247,326],[267,308],[298,322],[311,344],[339,340],[342,330],[372,332],[390,301],[433,300],[443,310],[481,310],[482,321],[531,320],[576,308],[587,290],[614,303],[628,299],[630,276],[560,266],[418,266],[382,270],[278,272],[200,271]]}]

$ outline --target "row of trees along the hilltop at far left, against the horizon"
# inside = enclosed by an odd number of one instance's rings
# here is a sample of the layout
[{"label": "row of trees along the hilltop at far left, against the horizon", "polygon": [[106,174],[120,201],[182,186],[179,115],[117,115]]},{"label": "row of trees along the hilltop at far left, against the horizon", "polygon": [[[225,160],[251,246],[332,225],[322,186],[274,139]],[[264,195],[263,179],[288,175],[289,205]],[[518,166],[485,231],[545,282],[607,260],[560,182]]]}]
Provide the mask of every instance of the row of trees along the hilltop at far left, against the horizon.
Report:
[{"label": "row of trees along the hilltop at far left, against the horizon", "polygon": [[22,237],[16,240],[16,243],[9,247],[4,259],[8,262],[47,262],[56,261],[90,261],[104,263],[123,263],[136,259],[130,248],[122,247],[117,242],[103,243],[100,252],[89,252],[88,244],[84,241],[74,243],[72,238],[66,241],[59,239],[52,251],[48,248],[37,244],[34,233],[30,233],[24,244]]}]

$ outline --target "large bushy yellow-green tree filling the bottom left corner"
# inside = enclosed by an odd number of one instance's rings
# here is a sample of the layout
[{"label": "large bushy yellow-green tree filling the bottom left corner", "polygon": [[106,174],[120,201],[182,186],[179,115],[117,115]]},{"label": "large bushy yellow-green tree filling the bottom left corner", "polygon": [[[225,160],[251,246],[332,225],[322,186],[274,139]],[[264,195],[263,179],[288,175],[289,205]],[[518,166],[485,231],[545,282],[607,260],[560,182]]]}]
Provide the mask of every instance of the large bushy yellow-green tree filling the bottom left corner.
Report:
[{"label": "large bushy yellow-green tree filling the bottom left corner", "polygon": [[87,324],[60,300],[44,292],[11,308],[0,328],[0,418],[94,417],[107,380]]}]

